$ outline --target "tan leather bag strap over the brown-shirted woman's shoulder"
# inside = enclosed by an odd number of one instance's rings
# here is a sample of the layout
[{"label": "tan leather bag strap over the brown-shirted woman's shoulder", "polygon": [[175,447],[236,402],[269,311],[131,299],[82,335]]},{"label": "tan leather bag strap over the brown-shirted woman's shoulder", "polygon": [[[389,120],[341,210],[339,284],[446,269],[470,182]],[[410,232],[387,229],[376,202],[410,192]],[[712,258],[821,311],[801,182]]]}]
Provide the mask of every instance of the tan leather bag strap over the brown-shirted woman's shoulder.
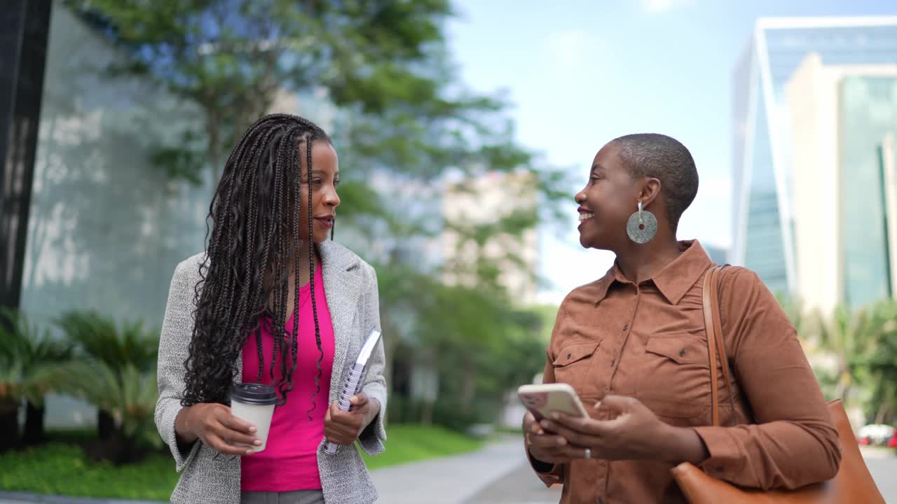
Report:
[{"label": "tan leather bag strap over the brown-shirted woman's shoulder", "polygon": [[726,355],[726,343],[723,339],[722,318],[719,316],[719,279],[726,265],[718,265],[710,268],[704,275],[703,308],[704,326],[707,330],[707,350],[710,362],[710,401],[711,418],[713,425],[719,425],[719,387],[717,385],[717,366],[722,368],[723,382],[729,402],[732,405],[732,416],[738,423],[738,415],[735,408],[735,395],[732,394],[732,380]]}]

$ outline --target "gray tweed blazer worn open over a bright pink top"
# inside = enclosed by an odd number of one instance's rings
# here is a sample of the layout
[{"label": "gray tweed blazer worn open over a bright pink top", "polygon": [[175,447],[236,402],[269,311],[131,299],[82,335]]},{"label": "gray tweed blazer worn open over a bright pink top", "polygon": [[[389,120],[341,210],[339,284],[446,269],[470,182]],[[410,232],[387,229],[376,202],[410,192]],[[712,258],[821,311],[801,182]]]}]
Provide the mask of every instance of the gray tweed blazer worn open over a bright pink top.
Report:
[{"label": "gray tweed blazer worn open over a bright pink top", "polygon": [[[321,243],[318,250],[327,308],[334,326],[335,355],[330,382],[330,403],[333,403],[343,389],[364,338],[372,327],[380,327],[377,274],[359,256],[332,241]],[[171,494],[171,502],[237,504],[240,458],[215,458],[217,452],[202,441],[196,441],[187,451],[181,452],[175,440],[174,421],[184,393],[184,361],[193,334],[194,288],[199,281],[202,258],[203,254],[198,254],[181,262],[171,279],[159,342],[159,401],[155,421],[159,434],[171,448],[178,472],[183,472]],[[242,364],[238,357],[235,380],[242,373]],[[380,414],[361,433],[358,443],[370,455],[382,452],[383,441],[387,439],[383,428],[383,413],[387,407],[383,365],[383,344],[379,343],[370,357],[368,375],[362,387],[365,395],[380,404]],[[323,445],[322,439],[318,446],[318,469],[327,504],[360,504],[377,500],[377,490],[357,448],[354,445],[342,447],[331,456],[323,453]]]}]

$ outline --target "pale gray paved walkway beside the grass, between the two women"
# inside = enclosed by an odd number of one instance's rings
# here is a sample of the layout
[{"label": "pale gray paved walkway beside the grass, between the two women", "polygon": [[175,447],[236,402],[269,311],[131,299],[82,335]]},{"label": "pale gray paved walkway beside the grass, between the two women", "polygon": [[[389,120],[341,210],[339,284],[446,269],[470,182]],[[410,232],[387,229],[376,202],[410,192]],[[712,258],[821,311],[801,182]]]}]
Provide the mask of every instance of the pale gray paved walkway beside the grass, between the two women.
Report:
[{"label": "pale gray paved walkway beside the grass, between the two women", "polygon": [[520,439],[508,436],[473,453],[385,467],[370,476],[384,504],[463,504],[525,462]]}]

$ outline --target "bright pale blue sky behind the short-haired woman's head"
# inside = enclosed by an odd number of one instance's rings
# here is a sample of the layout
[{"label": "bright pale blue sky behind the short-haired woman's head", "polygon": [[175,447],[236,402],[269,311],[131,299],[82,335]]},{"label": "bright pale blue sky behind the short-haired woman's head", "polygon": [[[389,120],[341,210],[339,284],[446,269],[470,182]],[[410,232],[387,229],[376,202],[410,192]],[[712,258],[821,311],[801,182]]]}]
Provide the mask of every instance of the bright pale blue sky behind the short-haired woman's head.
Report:
[{"label": "bright pale blue sky behind the short-haired woman's head", "polygon": [[[448,40],[466,86],[501,92],[516,140],[565,169],[568,217],[539,232],[541,302],[602,276],[606,251],[579,246],[573,195],[602,145],[662,133],[692,152],[698,196],[679,239],[731,243],[732,73],[760,17],[897,14],[897,0],[459,0]],[[633,208],[634,211],[634,208]]]}]

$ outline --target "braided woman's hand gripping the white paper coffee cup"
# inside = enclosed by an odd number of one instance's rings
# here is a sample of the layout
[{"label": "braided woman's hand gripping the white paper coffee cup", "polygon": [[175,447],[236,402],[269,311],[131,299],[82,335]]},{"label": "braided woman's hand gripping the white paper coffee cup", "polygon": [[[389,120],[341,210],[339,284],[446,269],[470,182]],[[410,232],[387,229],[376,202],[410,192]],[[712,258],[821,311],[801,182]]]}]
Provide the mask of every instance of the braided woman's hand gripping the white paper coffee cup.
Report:
[{"label": "braided woman's hand gripping the white paper coffee cup", "polygon": [[222,455],[249,455],[254,451],[248,446],[262,444],[262,440],[256,437],[256,427],[234,416],[231,408],[223,404],[194,404],[184,408],[181,416],[182,428],[178,431],[182,439],[187,442],[200,439],[205,446]]}]

